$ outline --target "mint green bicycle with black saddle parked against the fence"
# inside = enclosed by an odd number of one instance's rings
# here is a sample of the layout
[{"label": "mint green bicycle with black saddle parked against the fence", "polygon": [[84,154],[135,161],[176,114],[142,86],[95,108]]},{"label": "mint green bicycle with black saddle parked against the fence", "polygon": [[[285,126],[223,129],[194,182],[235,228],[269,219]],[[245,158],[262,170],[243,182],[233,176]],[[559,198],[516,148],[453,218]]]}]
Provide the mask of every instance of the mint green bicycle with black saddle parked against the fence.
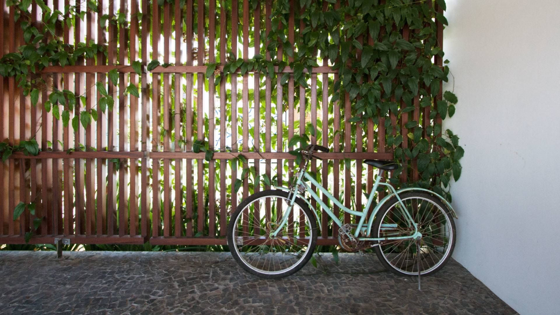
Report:
[{"label": "mint green bicycle with black saddle parked against the fence", "polygon": [[[364,160],[365,164],[379,168],[379,174],[363,211],[348,209],[307,173],[317,150],[329,151],[318,145],[301,151],[303,160],[290,188],[274,187],[251,194],[237,206],[228,224],[227,242],[241,267],[251,274],[275,279],[292,275],[309,261],[320,230],[317,222],[321,220],[305,192],[339,226],[338,242],[346,251],[373,247],[382,264],[399,275],[428,275],[447,263],[455,247],[456,215],[444,197],[422,188],[395,191],[390,184],[382,183],[381,177],[385,170],[394,170],[399,165],[393,161]],[[357,224],[340,222],[311,185],[340,209],[356,216]],[[380,185],[389,187],[390,192],[367,218],[373,192]]]}]

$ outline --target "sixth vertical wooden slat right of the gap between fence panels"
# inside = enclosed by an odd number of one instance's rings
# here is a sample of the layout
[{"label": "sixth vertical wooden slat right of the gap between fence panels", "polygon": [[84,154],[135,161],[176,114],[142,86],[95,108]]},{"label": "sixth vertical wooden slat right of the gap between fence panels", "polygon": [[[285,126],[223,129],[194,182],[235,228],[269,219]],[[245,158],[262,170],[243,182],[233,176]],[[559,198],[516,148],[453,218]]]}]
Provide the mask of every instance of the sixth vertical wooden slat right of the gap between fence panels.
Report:
[{"label": "sixth vertical wooden slat right of the gap between fence panels", "polygon": [[[216,0],[210,0],[208,8],[208,62],[216,62],[215,53],[215,41],[216,41]],[[216,111],[214,110],[214,94],[216,92],[216,86],[214,85],[214,75],[212,74],[208,79],[208,142],[210,149],[214,148],[214,132],[216,126],[214,126],[216,119]],[[216,205],[216,186],[214,180],[216,177],[216,161],[211,160],[208,162],[208,235],[213,237],[216,234],[216,210],[214,209]]]}]

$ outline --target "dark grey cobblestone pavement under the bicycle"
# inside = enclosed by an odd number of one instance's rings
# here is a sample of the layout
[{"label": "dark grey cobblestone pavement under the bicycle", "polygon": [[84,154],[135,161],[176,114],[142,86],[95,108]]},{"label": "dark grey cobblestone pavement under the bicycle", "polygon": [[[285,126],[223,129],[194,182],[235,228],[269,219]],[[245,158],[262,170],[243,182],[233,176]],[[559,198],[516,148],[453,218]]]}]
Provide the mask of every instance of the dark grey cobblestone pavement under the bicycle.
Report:
[{"label": "dark grey cobblestone pavement under the bicycle", "polygon": [[450,261],[400,277],[375,254],[316,256],[295,275],[263,280],[230,253],[0,252],[3,314],[515,314]]}]

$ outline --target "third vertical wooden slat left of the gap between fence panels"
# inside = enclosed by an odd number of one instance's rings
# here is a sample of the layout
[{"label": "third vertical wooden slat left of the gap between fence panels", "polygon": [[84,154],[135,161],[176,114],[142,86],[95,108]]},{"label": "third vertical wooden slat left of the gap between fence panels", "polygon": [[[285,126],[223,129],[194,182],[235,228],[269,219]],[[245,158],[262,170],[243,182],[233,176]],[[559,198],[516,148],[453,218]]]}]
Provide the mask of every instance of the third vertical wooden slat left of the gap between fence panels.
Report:
[{"label": "third vertical wooden slat left of the gap between fence panels", "polygon": [[[120,0],[120,12],[125,12],[126,2]],[[125,64],[127,58],[127,27],[121,24],[119,27],[119,64]],[[124,73],[119,74],[119,151],[126,150],[127,142],[127,97],[124,95],[126,84],[126,76]],[[154,94],[158,95],[158,94]],[[128,162],[128,161],[127,161]],[[128,231],[128,187],[127,180],[127,163],[120,163],[119,168],[119,236],[124,236]],[[154,172],[157,173],[157,172]]]}]

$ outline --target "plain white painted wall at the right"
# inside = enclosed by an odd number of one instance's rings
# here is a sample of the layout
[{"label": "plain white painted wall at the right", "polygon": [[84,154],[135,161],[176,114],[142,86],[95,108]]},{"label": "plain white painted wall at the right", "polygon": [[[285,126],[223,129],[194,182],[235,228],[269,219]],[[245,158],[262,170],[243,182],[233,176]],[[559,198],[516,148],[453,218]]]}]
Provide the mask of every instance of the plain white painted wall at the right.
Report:
[{"label": "plain white painted wall at the right", "polygon": [[521,314],[560,314],[559,16],[559,0],[447,0],[454,258]]}]

